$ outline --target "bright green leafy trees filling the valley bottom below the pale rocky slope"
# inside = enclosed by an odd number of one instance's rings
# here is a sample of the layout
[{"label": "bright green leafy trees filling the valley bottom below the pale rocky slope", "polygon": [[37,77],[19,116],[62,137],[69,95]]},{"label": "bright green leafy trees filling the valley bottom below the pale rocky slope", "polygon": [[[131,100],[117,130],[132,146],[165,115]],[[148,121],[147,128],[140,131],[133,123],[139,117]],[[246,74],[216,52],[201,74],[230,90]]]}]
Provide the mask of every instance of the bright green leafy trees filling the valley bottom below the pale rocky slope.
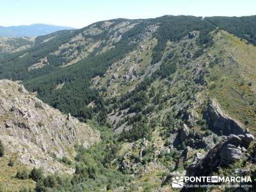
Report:
[{"label": "bright green leafy trees filling the valley bottom below the pale rocky slope", "polygon": [[36,191],[98,191],[124,186],[131,181],[131,176],[119,172],[116,168],[115,159],[118,157],[119,145],[114,140],[111,129],[98,129],[102,131],[102,141],[98,145],[89,149],[77,145],[74,175],[52,174],[45,177],[42,168],[33,168],[30,174],[26,170],[20,170],[17,177],[35,180]]}]

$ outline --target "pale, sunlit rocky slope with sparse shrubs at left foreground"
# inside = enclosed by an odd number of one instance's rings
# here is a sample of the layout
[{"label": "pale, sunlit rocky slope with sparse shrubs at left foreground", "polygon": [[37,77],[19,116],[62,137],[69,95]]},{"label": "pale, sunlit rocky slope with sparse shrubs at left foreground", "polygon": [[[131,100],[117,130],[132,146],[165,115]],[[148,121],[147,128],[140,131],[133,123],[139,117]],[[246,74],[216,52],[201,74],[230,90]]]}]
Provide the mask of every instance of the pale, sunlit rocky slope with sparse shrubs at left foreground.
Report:
[{"label": "pale, sunlit rocky slope with sparse shrubs at left foreground", "polygon": [[0,140],[21,163],[55,172],[61,165],[52,157],[73,159],[75,144],[89,147],[100,134],[44,104],[21,84],[0,80]]}]

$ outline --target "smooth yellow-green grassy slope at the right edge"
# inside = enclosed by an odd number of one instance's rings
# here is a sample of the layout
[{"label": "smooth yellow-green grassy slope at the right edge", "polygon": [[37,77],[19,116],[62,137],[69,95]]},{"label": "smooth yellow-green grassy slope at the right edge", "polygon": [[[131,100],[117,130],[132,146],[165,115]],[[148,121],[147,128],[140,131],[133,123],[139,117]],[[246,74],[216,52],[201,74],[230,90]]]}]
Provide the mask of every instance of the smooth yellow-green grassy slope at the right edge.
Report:
[{"label": "smooth yellow-green grassy slope at the right edge", "polygon": [[226,31],[214,35],[214,46],[209,51],[220,63],[210,68],[208,88],[232,118],[256,131],[256,47]]}]

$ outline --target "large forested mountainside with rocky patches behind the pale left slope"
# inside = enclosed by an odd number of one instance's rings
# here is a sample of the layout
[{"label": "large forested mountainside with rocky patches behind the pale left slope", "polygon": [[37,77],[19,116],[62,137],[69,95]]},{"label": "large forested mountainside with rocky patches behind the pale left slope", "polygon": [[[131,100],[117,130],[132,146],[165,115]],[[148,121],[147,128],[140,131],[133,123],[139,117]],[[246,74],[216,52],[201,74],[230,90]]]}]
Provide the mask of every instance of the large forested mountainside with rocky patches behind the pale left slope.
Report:
[{"label": "large forested mountainside with rocky patches behind the pale left slope", "polygon": [[255,16],[114,19],[0,57],[0,78],[106,135],[79,148],[66,186],[37,188],[170,191],[175,174],[236,169],[254,178],[255,31]]}]

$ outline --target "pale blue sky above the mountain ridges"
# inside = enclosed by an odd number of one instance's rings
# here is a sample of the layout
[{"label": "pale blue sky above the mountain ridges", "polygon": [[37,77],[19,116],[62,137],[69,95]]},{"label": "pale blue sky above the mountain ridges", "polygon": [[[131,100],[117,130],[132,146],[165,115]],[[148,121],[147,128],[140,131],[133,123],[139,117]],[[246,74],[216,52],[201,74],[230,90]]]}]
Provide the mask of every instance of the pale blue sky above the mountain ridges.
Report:
[{"label": "pale blue sky above the mountain ridges", "polygon": [[99,20],[162,15],[256,15],[255,0],[2,0],[0,26],[45,23],[82,28]]}]

